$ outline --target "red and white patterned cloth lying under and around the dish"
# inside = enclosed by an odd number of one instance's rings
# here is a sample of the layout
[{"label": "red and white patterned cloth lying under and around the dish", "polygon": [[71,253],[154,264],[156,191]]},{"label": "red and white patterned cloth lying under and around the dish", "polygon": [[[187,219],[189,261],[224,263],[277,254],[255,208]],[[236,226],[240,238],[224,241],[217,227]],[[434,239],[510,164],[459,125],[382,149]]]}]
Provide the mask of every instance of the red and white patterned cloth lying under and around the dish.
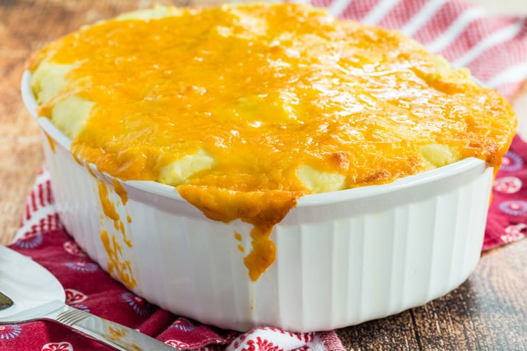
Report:
[{"label": "red and white patterned cloth lying under and around the dish", "polygon": [[[526,18],[492,17],[460,1],[314,0],[340,17],[399,28],[510,98],[527,78]],[[517,136],[494,183],[483,250],[527,231],[527,145]],[[42,171],[28,197],[12,249],[31,256],[62,283],[67,303],[155,336],[174,348],[199,350],[343,350],[336,334],[295,334],[259,327],[245,334],[201,325],[150,305],[89,260],[64,231]],[[0,350],[108,350],[60,325],[0,325]]]}]

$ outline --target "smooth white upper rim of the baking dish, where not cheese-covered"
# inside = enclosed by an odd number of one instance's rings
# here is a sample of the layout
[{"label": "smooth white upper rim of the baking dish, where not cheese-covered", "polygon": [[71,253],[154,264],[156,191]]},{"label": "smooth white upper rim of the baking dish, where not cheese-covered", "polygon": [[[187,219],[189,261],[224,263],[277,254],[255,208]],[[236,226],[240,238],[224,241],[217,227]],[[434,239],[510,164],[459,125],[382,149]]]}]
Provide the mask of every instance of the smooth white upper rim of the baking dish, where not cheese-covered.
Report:
[{"label": "smooth white upper rim of the baking dish, where not cheese-covered", "polygon": [[[71,139],[68,138],[58,127],[55,127],[49,118],[37,116],[37,101],[31,90],[31,71],[27,69],[21,77],[21,97],[24,102],[26,109],[29,114],[37,121],[40,128],[49,136],[55,143],[58,143],[60,147],[69,152],[71,146]],[[484,167],[482,167],[484,166]],[[95,165],[89,164],[89,168],[92,171],[98,172]],[[432,183],[440,179],[448,177],[455,177],[458,174],[470,172],[477,168],[486,169],[488,166],[485,161],[476,159],[475,157],[468,157],[449,165],[444,165],[440,168],[428,170],[413,174],[407,177],[396,179],[391,183],[372,185],[372,186],[361,186],[358,188],[349,188],[344,190],[337,190],[332,192],[321,192],[318,194],[304,195],[297,200],[295,207],[309,207],[309,206],[320,206],[324,204],[336,204],[343,201],[354,201],[356,199],[364,199],[367,197],[376,197],[379,195],[386,195],[391,192],[399,192],[408,188],[414,188],[415,186]],[[102,174],[103,177],[108,179],[119,179],[111,174]],[[169,186],[164,183],[157,181],[139,181],[139,180],[123,180],[119,179],[124,185],[135,188],[139,191],[149,192],[155,195],[162,195],[170,199],[187,202],[179,194],[177,187]]]}]

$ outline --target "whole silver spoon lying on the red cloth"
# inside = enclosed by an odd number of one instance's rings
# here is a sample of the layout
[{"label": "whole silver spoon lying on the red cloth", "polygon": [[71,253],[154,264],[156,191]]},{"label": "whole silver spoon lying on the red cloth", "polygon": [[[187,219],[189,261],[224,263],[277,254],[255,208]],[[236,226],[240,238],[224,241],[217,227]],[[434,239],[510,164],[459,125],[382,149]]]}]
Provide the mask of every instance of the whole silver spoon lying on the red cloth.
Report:
[{"label": "whole silver spoon lying on the red cloth", "polygon": [[171,346],[124,325],[69,307],[64,289],[47,269],[0,246],[0,325],[47,320],[116,350],[171,350]]}]

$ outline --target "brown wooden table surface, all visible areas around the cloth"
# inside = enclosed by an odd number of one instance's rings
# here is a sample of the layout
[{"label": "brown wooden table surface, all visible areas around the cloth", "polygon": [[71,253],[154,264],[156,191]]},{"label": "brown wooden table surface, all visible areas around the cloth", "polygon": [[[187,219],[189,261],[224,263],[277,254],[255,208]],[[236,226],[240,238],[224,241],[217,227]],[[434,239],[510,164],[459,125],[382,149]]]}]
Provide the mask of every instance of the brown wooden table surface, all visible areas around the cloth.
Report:
[{"label": "brown wooden table surface, all visible areas around the cloth", "polygon": [[[472,1],[491,10],[499,3],[501,13],[527,14],[526,0]],[[14,235],[43,162],[37,125],[19,96],[26,58],[82,24],[153,2],[0,0],[0,244]],[[207,5],[218,0],[172,3]],[[517,103],[525,105],[518,110],[527,111],[527,99]],[[396,316],[338,330],[338,334],[345,347],[354,350],[527,350],[526,291],[527,240],[523,240],[483,254],[476,271],[451,294]]]}]

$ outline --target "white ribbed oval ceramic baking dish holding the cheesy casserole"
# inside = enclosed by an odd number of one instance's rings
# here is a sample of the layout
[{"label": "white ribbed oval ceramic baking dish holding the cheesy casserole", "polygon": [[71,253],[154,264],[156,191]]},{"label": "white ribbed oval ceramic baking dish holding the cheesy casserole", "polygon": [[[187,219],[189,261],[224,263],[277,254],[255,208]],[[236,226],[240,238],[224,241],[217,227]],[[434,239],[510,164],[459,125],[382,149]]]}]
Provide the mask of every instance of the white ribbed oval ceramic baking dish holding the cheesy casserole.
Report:
[{"label": "white ribbed oval ceramic baking dish holding the cheesy casserole", "polygon": [[[37,104],[22,78],[22,97]],[[76,242],[107,269],[96,178],[69,152],[69,139],[37,118],[60,217]],[[95,172],[108,184],[112,179]],[[121,240],[135,293],[202,323],[245,331],[274,325],[295,332],[330,330],[396,314],[447,294],[480,257],[492,168],[478,159],[368,186],[302,197],[271,234],[273,265],[253,282],[243,265],[249,224],[202,215],[177,190],[152,181],[123,181],[128,202],[110,199],[126,220]],[[112,186],[108,188],[111,190]],[[234,231],[241,233],[236,240]]]}]

